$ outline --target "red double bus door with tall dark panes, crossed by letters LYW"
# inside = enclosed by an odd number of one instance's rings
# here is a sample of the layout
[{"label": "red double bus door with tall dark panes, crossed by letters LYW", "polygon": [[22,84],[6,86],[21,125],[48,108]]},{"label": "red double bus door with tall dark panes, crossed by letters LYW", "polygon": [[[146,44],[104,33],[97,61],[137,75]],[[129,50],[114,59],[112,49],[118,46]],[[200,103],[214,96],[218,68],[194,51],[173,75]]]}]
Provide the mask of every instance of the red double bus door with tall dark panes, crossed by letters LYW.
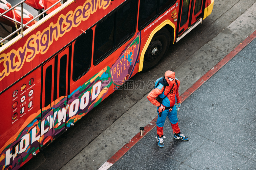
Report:
[{"label": "red double bus door with tall dark panes, crossed by letters LYW", "polygon": [[43,65],[40,147],[50,143],[66,126],[68,57],[69,47]]}]

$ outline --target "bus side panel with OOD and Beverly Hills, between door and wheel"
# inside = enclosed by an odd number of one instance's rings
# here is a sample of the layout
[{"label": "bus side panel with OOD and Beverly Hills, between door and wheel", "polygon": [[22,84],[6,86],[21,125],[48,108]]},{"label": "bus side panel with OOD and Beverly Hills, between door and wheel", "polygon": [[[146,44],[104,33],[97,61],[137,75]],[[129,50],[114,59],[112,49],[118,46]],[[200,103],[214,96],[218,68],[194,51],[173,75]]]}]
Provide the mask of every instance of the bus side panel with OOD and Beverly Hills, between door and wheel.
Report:
[{"label": "bus side panel with OOD and Beverly Hills, between door and wheel", "polygon": [[[68,107],[67,128],[131,78],[139,56],[140,32],[134,37],[126,46],[123,46],[123,50],[120,48],[105,59],[112,60],[115,58],[112,63],[111,61],[103,61],[95,66],[94,69],[97,69],[98,66],[102,68],[106,63],[111,63],[109,66],[98,71],[90,80],[79,86],[68,96],[69,101],[68,106],[66,106]],[[117,57],[118,55],[119,57]],[[88,74],[94,72],[94,69],[90,70],[81,79],[88,77]],[[76,86],[76,83],[73,85]]]}]

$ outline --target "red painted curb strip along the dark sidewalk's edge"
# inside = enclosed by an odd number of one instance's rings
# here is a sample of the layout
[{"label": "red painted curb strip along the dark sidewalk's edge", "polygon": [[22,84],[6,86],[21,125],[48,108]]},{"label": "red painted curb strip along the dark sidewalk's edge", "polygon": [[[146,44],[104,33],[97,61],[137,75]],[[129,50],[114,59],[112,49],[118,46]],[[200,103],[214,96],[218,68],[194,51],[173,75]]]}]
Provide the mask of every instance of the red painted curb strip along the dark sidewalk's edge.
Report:
[{"label": "red painted curb strip along the dark sidewalk's edge", "polygon": [[[252,40],[256,38],[256,31],[254,31],[250,36],[248,36],[241,44],[239,44],[233,51],[227,54],[219,63],[217,63],[211,70],[204,74],[195,84],[193,84],[189,89],[187,89],[181,96],[181,102],[186,100],[193,92],[195,92],[203,83],[205,83],[211,76],[213,76],[218,70],[220,70],[226,63],[228,63],[236,54],[238,54],[242,49],[244,49]],[[157,122],[157,117],[154,118],[145,128],[144,134],[151,131]],[[107,162],[114,164],[117,162],[131,147],[139,142],[143,136],[136,134],[126,145],[124,145],[120,150],[118,150]]]}]

